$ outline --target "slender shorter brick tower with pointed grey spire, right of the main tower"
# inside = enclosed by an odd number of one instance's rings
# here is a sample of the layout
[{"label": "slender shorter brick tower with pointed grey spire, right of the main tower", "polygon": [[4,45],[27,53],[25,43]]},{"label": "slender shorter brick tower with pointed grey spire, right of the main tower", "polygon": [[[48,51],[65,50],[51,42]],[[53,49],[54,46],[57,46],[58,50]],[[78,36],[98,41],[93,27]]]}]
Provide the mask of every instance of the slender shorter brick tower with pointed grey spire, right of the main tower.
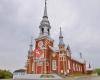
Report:
[{"label": "slender shorter brick tower with pointed grey spire, right of the main tower", "polygon": [[63,35],[62,35],[62,31],[61,31],[61,27],[60,27],[60,35],[59,35],[59,70],[58,72],[61,74],[66,75],[66,50],[65,50],[65,43],[63,41]]}]

